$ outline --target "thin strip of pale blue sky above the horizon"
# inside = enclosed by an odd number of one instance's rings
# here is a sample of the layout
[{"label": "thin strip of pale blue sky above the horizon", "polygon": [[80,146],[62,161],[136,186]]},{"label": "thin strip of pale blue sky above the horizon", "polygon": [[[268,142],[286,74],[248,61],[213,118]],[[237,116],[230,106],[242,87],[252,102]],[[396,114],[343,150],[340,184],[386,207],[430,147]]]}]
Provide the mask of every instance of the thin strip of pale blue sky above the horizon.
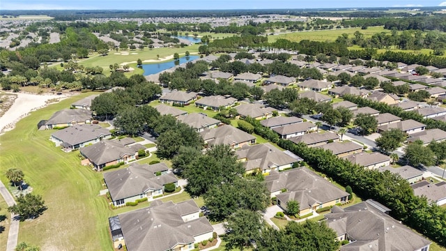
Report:
[{"label": "thin strip of pale blue sky above the horizon", "polygon": [[446,6],[434,0],[0,0],[0,10],[220,10]]}]

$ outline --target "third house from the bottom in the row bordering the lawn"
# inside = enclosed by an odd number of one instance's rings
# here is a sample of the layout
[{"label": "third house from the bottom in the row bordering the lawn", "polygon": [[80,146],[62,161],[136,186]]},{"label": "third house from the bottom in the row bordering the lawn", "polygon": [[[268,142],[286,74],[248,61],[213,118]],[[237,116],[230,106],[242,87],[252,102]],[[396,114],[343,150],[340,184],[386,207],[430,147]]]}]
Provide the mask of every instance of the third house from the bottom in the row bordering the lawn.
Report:
[{"label": "third house from the bottom in the row bordering the lawn", "polygon": [[146,147],[141,144],[124,146],[118,140],[105,139],[82,148],[80,153],[85,158],[82,165],[93,165],[96,171],[101,171],[109,165],[137,160],[139,150],[146,150]]}]

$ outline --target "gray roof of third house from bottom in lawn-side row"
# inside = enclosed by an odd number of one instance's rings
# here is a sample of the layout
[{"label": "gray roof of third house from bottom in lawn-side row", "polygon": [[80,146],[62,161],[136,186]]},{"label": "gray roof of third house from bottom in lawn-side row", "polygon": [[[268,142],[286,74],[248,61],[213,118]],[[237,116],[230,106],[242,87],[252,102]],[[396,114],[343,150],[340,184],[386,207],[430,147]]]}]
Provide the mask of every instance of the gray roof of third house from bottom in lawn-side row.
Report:
[{"label": "gray roof of third house from bottom in lawn-side row", "polygon": [[146,149],[140,144],[134,146],[123,146],[119,142],[112,140],[102,140],[91,146],[86,146],[80,151],[82,155],[89,158],[95,165],[102,165],[122,158],[124,155],[134,155],[139,149]]}]

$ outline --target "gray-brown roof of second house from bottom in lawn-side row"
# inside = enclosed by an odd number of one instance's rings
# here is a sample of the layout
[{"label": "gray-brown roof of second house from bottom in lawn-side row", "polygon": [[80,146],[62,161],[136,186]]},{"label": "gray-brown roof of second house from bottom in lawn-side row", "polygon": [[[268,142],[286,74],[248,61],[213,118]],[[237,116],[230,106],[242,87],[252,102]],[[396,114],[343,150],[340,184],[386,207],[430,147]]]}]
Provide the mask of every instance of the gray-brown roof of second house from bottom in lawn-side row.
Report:
[{"label": "gray-brown roof of second house from bottom in lawn-side row", "polygon": [[[169,167],[165,166],[162,169],[169,169]],[[130,165],[125,169],[106,172],[104,179],[114,201],[141,195],[149,189],[159,190],[167,183],[178,181],[172,173],[156,176],[149,165]]]}]

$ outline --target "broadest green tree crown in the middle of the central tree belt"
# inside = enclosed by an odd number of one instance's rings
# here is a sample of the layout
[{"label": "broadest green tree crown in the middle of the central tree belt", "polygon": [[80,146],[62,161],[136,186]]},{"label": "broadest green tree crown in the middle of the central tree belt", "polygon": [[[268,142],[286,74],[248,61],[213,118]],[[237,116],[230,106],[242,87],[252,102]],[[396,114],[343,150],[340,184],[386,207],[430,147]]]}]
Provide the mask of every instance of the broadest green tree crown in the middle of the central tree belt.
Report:
[{"label": "broadest green tree crown in the middle of the central tree belt", "polygon": [[[178,142],[178,138],[174,142]],[[176,144],[174,142],[172,144]],[[187,192],[192,196],[199,196],[213,185],[232,183],[244,173],[245,168],[237,161],[234,151],[227,145],[216,145],[187,165],[183,177],[187,178]]]}]

